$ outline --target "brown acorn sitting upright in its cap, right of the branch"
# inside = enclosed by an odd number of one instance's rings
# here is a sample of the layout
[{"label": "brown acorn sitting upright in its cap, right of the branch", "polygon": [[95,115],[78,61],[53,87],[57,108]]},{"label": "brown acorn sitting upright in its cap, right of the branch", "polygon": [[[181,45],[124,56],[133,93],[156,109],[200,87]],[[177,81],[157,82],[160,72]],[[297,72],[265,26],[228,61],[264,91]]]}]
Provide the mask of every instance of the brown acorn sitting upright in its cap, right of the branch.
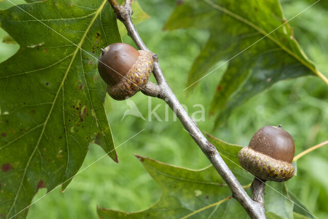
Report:
[{"label": "brown acorn sitting upright in its cap, right of the branch", "polygon": [[281,125],[264,126],[238,153],[241,166],[262,181],[283,182],[294,175],[295,144]]}]

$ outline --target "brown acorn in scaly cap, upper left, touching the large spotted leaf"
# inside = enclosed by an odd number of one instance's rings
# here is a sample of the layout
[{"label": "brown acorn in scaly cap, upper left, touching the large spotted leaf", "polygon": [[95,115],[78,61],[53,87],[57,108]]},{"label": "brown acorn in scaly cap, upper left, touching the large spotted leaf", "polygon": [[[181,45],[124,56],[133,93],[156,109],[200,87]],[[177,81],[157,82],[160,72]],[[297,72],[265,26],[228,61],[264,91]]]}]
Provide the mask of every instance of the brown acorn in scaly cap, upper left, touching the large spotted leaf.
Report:
[{"label": "brown acorn in scaly cap, upper left, touching the large spotted leaf", "polygon": [[98,71],[112,98],[127,99],[146,86],[153,71],[152,54],[124,43],[111,44],[101,49]]}]

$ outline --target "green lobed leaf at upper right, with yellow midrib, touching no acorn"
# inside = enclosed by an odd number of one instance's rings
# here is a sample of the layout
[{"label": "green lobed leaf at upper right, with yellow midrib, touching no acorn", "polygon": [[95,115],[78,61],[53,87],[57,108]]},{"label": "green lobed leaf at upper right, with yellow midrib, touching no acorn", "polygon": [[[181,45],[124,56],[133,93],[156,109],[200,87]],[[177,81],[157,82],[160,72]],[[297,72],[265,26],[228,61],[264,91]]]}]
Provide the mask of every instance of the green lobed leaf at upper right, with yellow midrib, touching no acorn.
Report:
[{"label": "green lobed leaf at upper right, with yellow midrib, touching no acorn", "polygon": [[[165,28],[190,27],[208,29],[210,37],[190,70],[187,86],[206,76],[218,61],[229,61],[211,104],[210,113],[219,112],[215,126],[280,80],[317,74],[328,83],[300,48],[278,0],[183,1]],[[215,71],[209,77],[215,77]]]}]

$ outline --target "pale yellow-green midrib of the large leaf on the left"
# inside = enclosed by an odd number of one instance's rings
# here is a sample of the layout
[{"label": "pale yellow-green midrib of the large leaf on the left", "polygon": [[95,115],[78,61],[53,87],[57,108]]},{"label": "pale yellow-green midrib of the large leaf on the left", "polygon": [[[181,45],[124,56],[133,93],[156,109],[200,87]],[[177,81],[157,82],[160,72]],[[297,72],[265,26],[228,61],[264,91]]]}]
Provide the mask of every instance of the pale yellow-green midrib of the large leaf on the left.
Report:
[{"label": "pale yellow-green midrib of the large leaf on the left", "polygon": [[[59,88],[58,88],[58,90],[57,90],[57,92],[56,92],[56,96],[55,96],[55,98],[54,98],[54,101],[53,101],[53,103],[52,103],[52,105],[51,105],[51,108],[50,108],[50,111],[49,111],[49,113],[48,113],[48,116],[47,116],[47,118],[46,118],[46,120],[45,120],[45,123],[44,123],[44,125],[43,125],[43,129],[42,129],[42,131],[41,131],[41,133],[40,133],[40,136],[39,136],[39,138],[38,138],[38,141],[37,141],[37,143],[36,143],[36,145],[35,145],[35,148],[34,148],[32,154],[30,155],[29,160],[28,160],[28,162],[27,162],[27,164],[26,164],[26,167],[25,167],[25,169],[24,169],[24,173],[23,173],[23,176],[22,176],[22,181],[20,181],[20,184],[19,184],[19,187],[18,187],[18,190],[17,190],[16,196],[15,196],[15,198],[14,198],[14,201],[13,201],[13,203],[12,203],[10,209],[9,209],[9,212],[8,212],[6,218],[9,217],[10,212],[12,211],[12,209],[13,209],[15,203],[16,203],[16,200],[17,200],[17,197],[18,197],[18,194],[19,194],[20,188],[22,188],[22,186],[23,186],[23,181],[24,181],[24,178],[25,178],[25,175],[26,175],[26,171],[27,171],[27,169],[28,169],[28,166],[29,166],[29,164],[30,164],[30,162],[31,162],[31,160],[32,160],[32,157],[33,157],[35,151],[37,150],[38,145],[39,145],[39,143],[40,143],[40,141],[41,141],[41,139],[42,139],[42,136],[43,136],[43,134],[44,134],[44,132],[45,132],[45,129],[46,129],[46,126],[47,126],[47,124],[48,124],[48,120],[49,120],[49,118],[50,118],[50,115],[51,115],[52,110],[53,110],[53,108],[54,108],[54,105],[55,105],[55,103],[56,103],[57,97],[58,97],[58,95],[59,95],[59,93],[60,93],[60,89],[61,89],[61,87],[63,87],[63,85],[64,85],[64,83],[65,83],[65,81],[66,81],[66,78],[67,78],[68,72],[70,71],[70,69],[71,69],[71,67],[72,67],[72,64],[73,64],[73,62],[74,62],[74,59],[75,59],[75,57],[76,57],[76,54],[77,54],[77,52],[79,51],[79,49],[81,48],[81,45],[83,44],[83,42],[84,42],[84,40],[85,40],[85,38],[86,38],[86,36],[87,36],[87,34],[88,34],[88,32],[89,32],[91,26],[92,26],[93,23],[95,22],[97,16],[98,16],[99,13],[101,12],[101,10],[104,8],[104,6],[105,6],[106,3],[107,3],[107,0],[105,0],[105,1],[103,2],[103,4],[101,4],[101,6],[99,7],[99,9],[96,11],[96,13],[95,13],[94,17],[92,18],[92,20],[91,20],[91,22],[90,22],[90,24],[89,24],[87,30],[85,31],[85,33],[84,33],[84,35],[82,36],[82,38],[81,38],[79,44],[78,44],[77,47],[76,47],[76,50],[75,50],[74,53],[73,53],[73,57],[72,57],[71,62],[70,62],[69,66],[68,66],[68,68],[67,68],[67,70],[66,70],[66,72],[65,72],[65,75],[64,75],[64,77],[63,77],[63,80],[61,81],[60,86],[59,86]],[[24,210],[24,209],[23,209],[23,210]],[[18,213],[20,213],[20,212],[18,212]]]}]

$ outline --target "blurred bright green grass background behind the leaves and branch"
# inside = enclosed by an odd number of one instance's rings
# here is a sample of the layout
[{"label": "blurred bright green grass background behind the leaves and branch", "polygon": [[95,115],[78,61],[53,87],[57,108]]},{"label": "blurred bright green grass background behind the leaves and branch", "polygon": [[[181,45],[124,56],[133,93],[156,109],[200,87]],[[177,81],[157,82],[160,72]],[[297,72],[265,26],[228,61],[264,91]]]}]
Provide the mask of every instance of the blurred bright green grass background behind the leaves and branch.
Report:
[{"label": "blurred bright green grass background behind the leaves and branch", "polygon": [[[314,1],[283,1],[282,7],[286,17],[291,18],[312,3]],[[194,104],[202,104],[206,109],[206,121],[198,122],[201,130],[230,143],[247,145],[258,128],[282,123],[294,137],[296,154],[327,140],[328,87],[318,77],[302,77],[275,84],[238,109],[226,126],[212,132],[214,117],[208,116],[209,107],[217,82],[227,66],[204,78],[188,96],[186,91],[182,91],[192,63],[209,33],[196,29],[163,31],[163,24],[176,4],[174,0],[140,0],[139,4],[151,18],[136,26],[138,32],[149,49],[159,55],[162,70],[178,99],[188,106],[190,113],[199,110],[193,108]],[[0,3],[0,8],[10,6],[7,1]],[[295,17],[290,24],[302,49],[328,76],[327,8],[319,2]],[[0,30],[0,38],[6,35]],[[133,45],[128,36],[124,36],[123,41]],[[17,50],[18,45],[0,43],[0,61]],[[151,79],[154,81],[153,77]],[[148,97],[138,93],[132,100],[148,119]],[[208,166],[208,160],[192,138],[182,130],[178,121],[173,121],[172,112],[169,110],[169,121],[165,122],[165,105],[159,99],[151,101],[152,109],[160,104],[156,112],[162,122],[154,116],[149,122],[130,115],[121,121],[124,111],[129,109],[126,102],[112,101],[107,97],[106,110],[116,146],[140,130],[146,130],[117,149],[118,164],[104,157],[78,174],[64,193],[56,189],[32,205],[28,218],[96,218],[96,206],[129,212],[151,206],[158,200],[160,189],[132,153],[193,169]],[[90,146],[81,168],[103,155],[100,147]],[[290,191],[319,218],[328,217],[327,158],[328,147],[302,157],[298,161],[298,175],[287,183]],[[46,189],[40,189],[34,200],[45,193]]]}]

